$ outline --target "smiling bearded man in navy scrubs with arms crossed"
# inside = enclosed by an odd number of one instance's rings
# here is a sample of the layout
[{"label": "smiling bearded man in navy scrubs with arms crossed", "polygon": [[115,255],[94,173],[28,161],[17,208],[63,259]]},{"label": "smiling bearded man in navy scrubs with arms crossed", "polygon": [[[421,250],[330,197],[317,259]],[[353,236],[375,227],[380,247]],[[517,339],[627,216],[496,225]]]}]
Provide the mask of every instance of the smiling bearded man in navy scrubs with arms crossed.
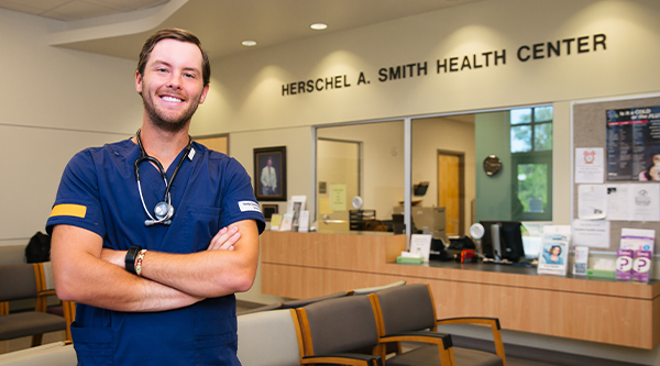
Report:
[{"label": "smiling bearded man in navy scrubs with arms crossed", "polygon": [[63,174],[46,229],[80,365],[240,365],[233,293],[253,284],[265,223],[245,169],[188,135],[209,80],[195,35],[152,35],[142,127]]}]

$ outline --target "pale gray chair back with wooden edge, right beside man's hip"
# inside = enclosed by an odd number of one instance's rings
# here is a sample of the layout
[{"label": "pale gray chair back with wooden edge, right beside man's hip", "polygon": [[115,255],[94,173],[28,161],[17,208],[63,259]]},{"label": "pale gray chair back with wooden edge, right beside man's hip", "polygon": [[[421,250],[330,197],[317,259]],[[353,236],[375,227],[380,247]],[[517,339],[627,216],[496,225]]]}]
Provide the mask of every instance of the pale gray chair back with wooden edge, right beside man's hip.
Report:
[{"label": "pale gray chair back with wooden edge, right beside man's hip", "polygon": [[293,309],[238,317],[239,361],[243,366],[300,365],[302,339]]}]

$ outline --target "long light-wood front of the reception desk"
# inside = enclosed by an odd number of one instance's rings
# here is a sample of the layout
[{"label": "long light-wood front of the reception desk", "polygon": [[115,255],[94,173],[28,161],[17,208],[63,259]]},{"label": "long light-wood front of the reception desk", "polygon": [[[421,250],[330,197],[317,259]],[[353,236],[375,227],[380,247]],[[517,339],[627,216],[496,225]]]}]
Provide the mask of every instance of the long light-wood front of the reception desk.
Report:
[{"label": "long light-wood front of the reception desk", "polygon": [[493,264],[396,264],[405,235],[263,233],[262,292],[301,299],[397,280],[429,284],[438,317],[495,317],[506,330],[651,350],[660,282],[539,276]]}]

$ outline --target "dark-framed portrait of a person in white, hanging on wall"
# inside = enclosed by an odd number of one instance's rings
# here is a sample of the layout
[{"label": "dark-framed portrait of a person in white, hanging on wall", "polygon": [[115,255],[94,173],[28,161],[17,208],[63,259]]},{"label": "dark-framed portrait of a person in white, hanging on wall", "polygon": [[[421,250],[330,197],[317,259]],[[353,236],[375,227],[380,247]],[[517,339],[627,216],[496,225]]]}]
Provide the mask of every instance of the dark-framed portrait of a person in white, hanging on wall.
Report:
[{"label": "dark-framed portrait of a person in white, hanging on wall", "polygon": [[254,149],[254,180],[258,201],[286,201],[286,146]]}]

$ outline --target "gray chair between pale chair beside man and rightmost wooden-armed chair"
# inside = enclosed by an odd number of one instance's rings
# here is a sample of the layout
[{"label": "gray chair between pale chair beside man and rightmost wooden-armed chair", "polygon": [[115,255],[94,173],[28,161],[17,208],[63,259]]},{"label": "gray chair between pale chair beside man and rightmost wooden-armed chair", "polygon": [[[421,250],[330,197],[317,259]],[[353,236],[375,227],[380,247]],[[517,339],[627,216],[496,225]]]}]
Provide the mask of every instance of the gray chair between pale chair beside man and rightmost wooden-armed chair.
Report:
[{"label": "gray chair between pale chair beside man and rightmost wooden-armed chair", "polygon": [[350,296],[298,308],[306,364],[383,365],[375,355],[350,353],[371,347],[378,353],[378,330],[372,295]]}]

